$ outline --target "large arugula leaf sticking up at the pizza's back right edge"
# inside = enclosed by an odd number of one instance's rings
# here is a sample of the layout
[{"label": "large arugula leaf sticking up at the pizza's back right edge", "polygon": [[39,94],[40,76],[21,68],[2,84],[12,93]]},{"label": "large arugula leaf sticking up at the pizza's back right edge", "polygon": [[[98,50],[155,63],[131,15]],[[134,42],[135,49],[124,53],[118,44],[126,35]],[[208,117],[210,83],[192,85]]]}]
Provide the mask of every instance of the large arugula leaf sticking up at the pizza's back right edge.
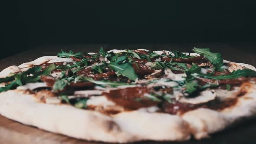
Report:
[{"label": "large arugula leaf sticking up at the pizza's back right edge", "polygon": [[220,69],[220,67],[223,65],[223,59],[220,53],[210,52],[209,48],[198,49],[194,47],[193,51],[202,56],[205,56],[214,65],[216,70]]}]

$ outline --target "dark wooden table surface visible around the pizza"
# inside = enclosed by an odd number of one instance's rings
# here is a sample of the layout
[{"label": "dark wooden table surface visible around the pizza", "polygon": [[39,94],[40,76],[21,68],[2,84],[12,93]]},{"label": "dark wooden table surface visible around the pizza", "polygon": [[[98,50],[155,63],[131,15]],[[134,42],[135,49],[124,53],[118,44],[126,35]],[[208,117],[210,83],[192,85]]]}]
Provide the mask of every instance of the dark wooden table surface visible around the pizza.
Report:
[{"label": "dark wooden table surface visible around the pizza", "polygon": [[[32,61],[40,56],[55,56],[60,49],[74,52],[98,52],[100,47],[109,49],[149,49],[149,50],[180,50],[192,52],[193,47],[209,47],[213,52],[221,52],[223,59],[232,62],[243,62],[256,66],[256,43],[176,43],[176,44],[93,44],[93,45],[65,45],[41,46],[30,49],[14,56],[0,60],[0,70],[10,65],[20,65]],[[256,120],[250,120],[236,127],[212,134],[210,139],[200,141],[191,140],[178,144],[252,144],[256,143]],[[53,134],[26,126],[16,121],[9,120],[0,115],[0,144],[102,144],[101,142],[88,142]],[[145,141],[136,144],[159,144],[159,142]],[[161,144],[176,144],[176,142],[163,142]]]}]

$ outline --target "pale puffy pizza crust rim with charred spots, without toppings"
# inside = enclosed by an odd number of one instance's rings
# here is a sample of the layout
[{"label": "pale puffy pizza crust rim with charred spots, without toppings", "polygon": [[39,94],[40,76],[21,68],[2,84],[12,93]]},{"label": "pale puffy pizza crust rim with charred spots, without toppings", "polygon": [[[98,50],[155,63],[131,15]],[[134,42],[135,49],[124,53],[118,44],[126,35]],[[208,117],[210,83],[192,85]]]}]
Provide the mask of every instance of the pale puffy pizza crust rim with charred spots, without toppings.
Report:
[{"label": "pale puffy pizza crust rim with charred spots, without toppings", "polygon": [[[112,50],[113,52],[119,52]],[[196,55],[195,53],[191,53]],[[57,56],[43,56],[19,66],[10,66],[0,72],[0,77],[10,73],[26,71],[34,65],[54,60]],[[225,61],[224,62],[229,62]],[[255,67],[243,63],[248,69]],[[214,111],[199,108],[182,116],[146,111],[125,111],[117,115],[103,115],[98,111],[78,109],[70,105],[38,103],[33,95],[16,90],[0,93],[0,114],[33,125],[40,129],[89,141],[134,142],[134,141],[186,141],[193,135],[197,139],[208,137],[243,118],[256,115],[256,86],[231,108]]]}]

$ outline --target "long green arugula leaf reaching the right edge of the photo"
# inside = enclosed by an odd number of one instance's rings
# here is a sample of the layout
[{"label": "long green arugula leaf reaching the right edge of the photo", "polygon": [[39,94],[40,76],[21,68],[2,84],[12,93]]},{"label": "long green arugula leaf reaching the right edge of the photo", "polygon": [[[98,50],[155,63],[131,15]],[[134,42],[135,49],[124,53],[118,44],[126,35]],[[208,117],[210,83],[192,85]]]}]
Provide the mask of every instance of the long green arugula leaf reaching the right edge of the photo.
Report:
[{"label": "long green arugula leaf reaching the right edge of the photo", "polygon": [[229,75],[211,76],[211,75],[200,74],[198,76],[207,78],[207,79],[236,79],[241,76],[245,76],[245,77],[256,76],[256,71],[251,70],[251,69],[238,69],[236,71],[233,71]]}]

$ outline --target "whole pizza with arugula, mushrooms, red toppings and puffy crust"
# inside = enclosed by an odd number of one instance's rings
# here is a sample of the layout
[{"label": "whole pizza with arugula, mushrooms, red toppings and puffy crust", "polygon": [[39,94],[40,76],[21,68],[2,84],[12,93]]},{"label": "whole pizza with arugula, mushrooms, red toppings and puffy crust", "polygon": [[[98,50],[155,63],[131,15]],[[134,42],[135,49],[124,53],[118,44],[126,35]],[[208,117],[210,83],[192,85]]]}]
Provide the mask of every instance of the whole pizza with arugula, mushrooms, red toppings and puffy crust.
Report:
[{"label": "whole pizza with arugula, mushrooms, red toppings and puffy crust", "polygon": [[64,52],[0,72],[0,114],[87,141],[202,139],[256,115],[256,69],[220,53]]}]

